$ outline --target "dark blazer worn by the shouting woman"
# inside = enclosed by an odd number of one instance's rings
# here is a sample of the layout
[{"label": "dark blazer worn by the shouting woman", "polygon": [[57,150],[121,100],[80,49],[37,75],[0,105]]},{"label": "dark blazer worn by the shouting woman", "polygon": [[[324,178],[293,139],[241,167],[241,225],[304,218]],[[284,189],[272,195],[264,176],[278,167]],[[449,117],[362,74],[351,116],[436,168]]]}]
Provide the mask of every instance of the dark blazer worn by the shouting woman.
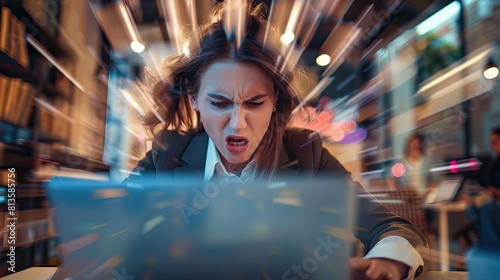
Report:
[{"label": "dark blazer worn by the shouting woman", "polygon": [[[341,175],[346,186],[355,186],[360,191],[364,188],[353,182],[350,173],[325,148],[321,138],[311,131],[289,130],[284,136],[284,149],[280,155],[283,166],[279,175],[314,178],[326,174]],[[189,172],[203,179],[208,135],[205,132],[179,134],[176,131],[163,130],[153,142],[153,148],[142,159],[128,181],[140,182],[144,176],[181,175]],[[390,212],[381,203],[374,203],[373,198],[363,196],[358,202],[358,218],[355,230],[356,238],[365,246],[365,253],[371,250],[381,239],[396,235],[407,239],[415,248],[428,247],[425,237],[408,220]],[[428,258],[424,258],[426,260]],[[428,267],[428,264],[425,264]],[[423,268],[417,271],[417,275]]]}]

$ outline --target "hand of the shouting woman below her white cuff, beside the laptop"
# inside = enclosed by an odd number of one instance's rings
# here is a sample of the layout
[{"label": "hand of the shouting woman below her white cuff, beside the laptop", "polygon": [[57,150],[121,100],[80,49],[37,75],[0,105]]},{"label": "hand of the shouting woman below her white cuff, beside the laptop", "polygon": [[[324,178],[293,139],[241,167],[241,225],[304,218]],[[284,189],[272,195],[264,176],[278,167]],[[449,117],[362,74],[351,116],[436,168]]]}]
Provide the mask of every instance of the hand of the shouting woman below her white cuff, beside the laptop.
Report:
[{"label": "hand of the shouting woman below her white cuff, beside the laptop", "polygon": [[395,260],[351,258],[351,272],[356,280],[400,280],[408,276],[410,267]]}]

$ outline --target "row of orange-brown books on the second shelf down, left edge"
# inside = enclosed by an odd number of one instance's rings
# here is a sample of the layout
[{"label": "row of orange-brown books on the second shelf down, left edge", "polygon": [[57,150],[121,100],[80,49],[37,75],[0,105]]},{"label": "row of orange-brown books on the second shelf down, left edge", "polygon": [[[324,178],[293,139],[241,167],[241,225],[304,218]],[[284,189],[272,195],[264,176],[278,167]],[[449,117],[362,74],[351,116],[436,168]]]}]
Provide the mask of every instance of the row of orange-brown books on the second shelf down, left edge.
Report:
[{"label": "row of orange-brown books on the second shelf down, left edge", "polygon": [[33,109],[34,95],[33,85],[0,74],[0,120],[26,127]]}]

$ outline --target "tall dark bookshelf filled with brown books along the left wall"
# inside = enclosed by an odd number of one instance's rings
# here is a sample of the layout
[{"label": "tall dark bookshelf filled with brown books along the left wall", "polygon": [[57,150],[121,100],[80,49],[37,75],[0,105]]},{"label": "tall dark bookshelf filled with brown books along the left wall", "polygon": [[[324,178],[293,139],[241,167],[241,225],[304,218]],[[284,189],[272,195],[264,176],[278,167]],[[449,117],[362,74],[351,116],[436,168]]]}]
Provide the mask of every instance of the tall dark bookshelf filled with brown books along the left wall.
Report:
[{"label": "tall dark bookshelf filled with brown books along the left wall", "polygon": [[[57,7],[51,9],[57,12],[46,14],[45,21],[33,15],[54,3]],[[107,85],[92,79],[97,64],[92,55],[75,53],[58,32],[86,28],[89,19],[84,16],[93,19],[91,13],[63,7],[60,1],[0,0],[0,175],[15,168],[18,178],[16,215],[22,221],[16,254],[22,261],[16,271],[60,262],[53,208],[43,182],[64,172],[109,171],[102,163]],[[81,25],[67,22],[68,17],[82,17]],[[0,178],[0,277],[9,274],[6,185]]]}]

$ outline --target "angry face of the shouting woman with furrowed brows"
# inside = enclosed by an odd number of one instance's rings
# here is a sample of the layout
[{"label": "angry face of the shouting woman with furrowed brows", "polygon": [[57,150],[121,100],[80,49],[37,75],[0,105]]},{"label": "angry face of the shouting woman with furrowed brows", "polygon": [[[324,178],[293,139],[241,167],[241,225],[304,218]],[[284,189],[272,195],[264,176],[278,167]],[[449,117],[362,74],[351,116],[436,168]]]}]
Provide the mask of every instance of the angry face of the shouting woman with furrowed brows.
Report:
[{"label": "angry face of the shouting woman with furrowed brows", "polygon": [[194,102],[228,170],[252,158],[275,106],[271,78],[254,64],[232,60],[208,67]]}]

